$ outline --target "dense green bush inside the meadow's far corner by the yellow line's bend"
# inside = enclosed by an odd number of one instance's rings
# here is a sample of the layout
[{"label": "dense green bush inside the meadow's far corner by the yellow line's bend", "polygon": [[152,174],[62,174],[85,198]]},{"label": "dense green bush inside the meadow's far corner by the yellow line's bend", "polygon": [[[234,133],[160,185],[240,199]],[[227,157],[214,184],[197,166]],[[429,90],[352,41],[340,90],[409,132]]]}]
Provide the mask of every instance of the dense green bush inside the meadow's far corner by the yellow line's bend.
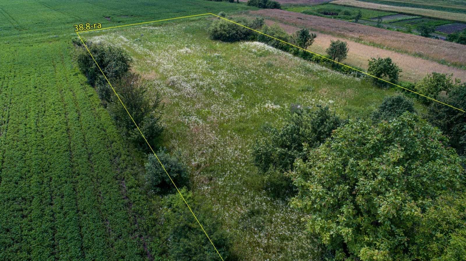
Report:
[{"label": "dense green bush inside the meadow's far corner by the yellow line's bend", "polygon": [[252,31],[227,20],[219,19],[212,22],[207,32],[212,40],[235,42],[249,39]]}]

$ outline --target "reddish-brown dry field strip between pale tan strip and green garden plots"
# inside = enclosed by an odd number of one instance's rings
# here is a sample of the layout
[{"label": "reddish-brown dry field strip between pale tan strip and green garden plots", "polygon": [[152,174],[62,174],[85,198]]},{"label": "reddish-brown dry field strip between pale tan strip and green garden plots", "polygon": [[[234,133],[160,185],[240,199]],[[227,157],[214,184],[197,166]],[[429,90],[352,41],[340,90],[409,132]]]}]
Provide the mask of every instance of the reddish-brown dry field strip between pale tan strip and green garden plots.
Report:
[{"label": "reddish-brown dry field strip between pale tan strip and green garden plots", "polygon": [[279,9],[262,9],[251,13],[321,33],[388,47],[401,53],[466,66],[466,45]]}]

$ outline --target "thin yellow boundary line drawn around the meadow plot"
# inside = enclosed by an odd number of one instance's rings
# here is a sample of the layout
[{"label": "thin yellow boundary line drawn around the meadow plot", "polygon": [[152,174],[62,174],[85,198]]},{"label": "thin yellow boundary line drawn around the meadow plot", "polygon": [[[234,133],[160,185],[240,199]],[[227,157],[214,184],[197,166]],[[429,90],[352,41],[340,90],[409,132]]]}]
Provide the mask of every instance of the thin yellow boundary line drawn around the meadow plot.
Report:
[{"label": "thin yellow boundary line drawn around the meadow plot", "polygon": [[368,75],[368,76],[374,77],[374,78],[376,78],[376,79],[378,79],[378,80],[382,80],[382,81],[387,82],[387,83],[389,83],[389,84],[391,84],[391,85],[394,85],[394,86],[396,86],[396,87],[400,87],[400,88],[402,88],[402,89],[404,89],[404,90],[410,91],[410,92],[415,93],[415,94],[418,94],[418,95],[420,95],[420,96],[423,96],[423,97],[425,97],[425,98],[427,98],[427,99],[434,100],[434,101],[439,102],[439,103],[441,103],[441,104],[444,104],[444,105],[446,105],[446,106],[449,106],[449,107],[452,107],[452,108],[454,108],[454,109],[457,109],[457,110],[459,110],[459,111],[461,111],[461,112],[465,112],[464,110],[462,110],[462,109],[460,109],[460,108],[453,107],[453,106],[451,106],[451,105],[449,105],[449,104],[446,104],[446,103],[444,103],[444,102],[441,102],[441,101],[439,101],[439,100],[432,99],[432,98],[430,98],[430,97],[428,97],[428,96],[425,96],[425,95],[423,95],[423,94],[419,94],[419,93],[417,93],[417,92],[415,92],[415,91],[412,91],[412,90],[410,90],[410,89],[408,89],[408,88],[405,88],[405,87],[399,86],[399,85],[397,85],[397,84],[395,84],[395,83],[392,83],[392,82],[390,82],[390,81],[387,81],[387,80],[378,78],[377,76],[368,74],[368,73],[366,73],[366,72],[364,72],[364,71],[361,71],[361,70],[358,70],[358,69],[356,69],[356,68],[350,67],[350,66],[348,66],[348,65],[345,65],[345,64],[343,64],[343,63],[340,63],[340,62],[338,62],[338,61],[336,61],[336,60],[332,60],[332,59],[327,58],[327,57],[325,57],[325,56],[322,56],[322,55],[320,55],[320,54],[316,54],[316,53],[314,53],[314,52],[308,51],[307,49],[304,49],[304,48],[295,46],[294,44],[291,44],[291,43],[288,43],[288,42],[286,42],[286,41],[284,41],[284,40],[275,38],[275,37],[270,36],[270,35],[268,35],[268,34],[266,34],[266,33],[262,33],[262,32],[260,32],[260,31],[254,30],[254,29],[252,29],[252,28],[249,28],[249,27],[247,27],[247,26],[244,26],[244,25],[239,24],[239,23],[237,23],[237,22],[235,22],[235,21],[226,19],[226,18],[224,18],[224,17],[221,17],[221,16],[216,15],[216,14],[213,14],[213,13],[202,13],[202,14],[188,15],[188,16],[182,16],[182,17],[169,18],[169,19],[154,20],[154,21],[147,21],[147,22],[141,22],[141,23],[134,23],[134,24],[128,24],[128,25],[114,26],[114,27],[105,27],[105,28],[99,28],[99,29],[92,29],[92,30],[86,30],[86,31],[76,32],[76,34],[78,35],[78,37],[79,37],[79,39],[81,40],[82,44],[84,45],[84,47],[85,47],[86,50],[88,51],[90,57],[91,57],[92,60],[94,60],[94,62],[96,63],[97,67],[99,68],[99,70],[100,70],[100,72],[102,73],[102,75],[103,75],[103,77],[105,78],[105,80],[107,80],[107,83],[110,85],[110,88],[112,89],[113,93],[117,96],[118,100],[119,100],[120,103],[122,104],[122,106],[123,106],[123,108],[125,109],[126,113],[130,116],[131,120],[133,121],[134,125],[136,126],[137,130],[139,131],[139,134],[141,134],[141,136],[144,138],[144,141],[147,143],[147,145],[148,145],[149,148],[151,149],[151,152],[152,152],[152,153],[155,155],[155,157],[157,158],[158,162],[160,163],[160,166],[164,169],[165,174],[167,174],[167,176],[168,176],[168,178],[170,179],[171,183],[172,183],[173,186],[177,189],[178,194],[181,196],[181,198],[182,198],[183,201],[185,202],[186,206],[189,208],[189,210],[190,210],[192,216],[193,216],[194,219],[198,222],[200,228],[202,229],[202,231],[204,232],[204,234],[206,234],[207,239],[210,241],[210,243],[212,244],[212,246],[213,246],[213,248],[215,249],[215,251],[217,252],[217,254],[219,254],[219,257],[220,257],[220,259],[221,259],[222,261],[224,261],[223,258],[222,258],[222,256],[220,255],[219,251],[217,250],[217,248],[216,248],[215,245],[213,244],[213,242],[212,242],[212,240],[210,239],[209,235],[207,234],[206,230],[204,229],[204,227],[202,227],[201,223],[199,222],[198,218],[196,217],[196,215],[195,215],[194,212],[192,211],[192,209],[191,209],[191,207],[189,206],[188,202],[185,200],[185,197],[181,194],[181,192],[180,192],[180,190],[178,189],[178,187],[176,186],[175,182],[171,179],[170,174],[168,174],[168,172],[167,172],[167,170],[165,169],[164,165],[163,165],[162,162],[159,160],[157,154],[156,154],[155,151],[152,149],[151,145],[149,144],[149,142],[148,142],[147,139],[145,138],[144,134],[142,133],[142,131],[141,131],[141,129],[139,128],[139,126],[137,125],[137,123],[134,121],[132,115],[130,114],[130,112],[128,111],[128,109],[126,108],[126,106],[124,105],[123,101],[120,99],[120,96],[117,94],[117,92],[115,91],[115,89],[114,89],[113,86],[111,85],[110,81],[107,79],[107,76],[103,73],[103,71],[102,71],[102,69],[100,68],[99,64],[98,64],[98,63],[96,62],[96,60],[94,59],[94,56],[93,56],[93,55],[91,54],[91,52],[89,51],[89,48],[86,46],[84,40],[82,40],[81,36],[79,35],[79,33],[85,33],[85,32],[91,32],[91,31],[112,29],[112,28],[117,28],[117,27],[135,26],[135,25],[141,25],[141,24],[148,24],[148,23],[155,23],[155,22],[161,22],[161,21],[168,21],[168,20],[175,20],[175,19],[182,19],[182,18],[190,18],[190,17],[197,17],[197,16],[204,16],[204,15],[213,15],[213,16],[219,18],[219,19],[223,19],[223,20],[226,20],[226,21],[228,21],[228,22],[232,22],[232,23],[234,23],[234,24],[236,24],[236,25],[239,25],[239,26],[241,26],[241,27],[245,27],[245,28],[247,28],[247,29],[249,29],[249,30],[252,30],[252,31],[256,32],[256,33],[263,34],[263,35],[265,35],[265,36],[267,36],[267,37],[270,37],[270,38],[272,38],[272,39],[274,39],[274,40],[281,41],[281,42],[283,42],[283,43],[286,43],[286,44],[288,44],[288,45],[290,45],[290,46],[292,46],[292,47],[296,47],[296,48],[298,48],[298,49],[301,49],[301,50],[303,50],[303,51],[305,51],[305,52],[308,52],[308,53],[310,53],[310,54],[314,54],[314,55],[320,56],[320,57],[322,57],[322,58],[324,58],[324,59],[330,60],[330,61],[335,62],[335,63],[337,63],[337,64],[340,64],[340,65],[342,65],[342,66],[351,68],[351,69],[353,69],[353,70],[355,70],[355,71],[357,71],[357,72],[360,72],[360,73],[366,74],[366,75]]}]

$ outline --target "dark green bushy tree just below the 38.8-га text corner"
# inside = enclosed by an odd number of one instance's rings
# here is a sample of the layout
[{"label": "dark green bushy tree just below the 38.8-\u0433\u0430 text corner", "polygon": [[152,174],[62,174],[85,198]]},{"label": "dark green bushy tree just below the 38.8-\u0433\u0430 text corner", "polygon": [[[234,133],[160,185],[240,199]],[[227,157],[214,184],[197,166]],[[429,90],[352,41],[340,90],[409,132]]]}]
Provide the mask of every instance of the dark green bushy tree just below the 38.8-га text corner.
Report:
[{"label": "dark green bushy tree just below the 38.8-\u0433\u0430 text corner", "polygon": [[[130,71],[132,59],[123,49],[89,42],[87,46],[110,82],[121,79]],[[86,49],[81,49],[77,63],[81,72],[86,75],[89,84],[95,86],[96,80],[102,73]]]}]

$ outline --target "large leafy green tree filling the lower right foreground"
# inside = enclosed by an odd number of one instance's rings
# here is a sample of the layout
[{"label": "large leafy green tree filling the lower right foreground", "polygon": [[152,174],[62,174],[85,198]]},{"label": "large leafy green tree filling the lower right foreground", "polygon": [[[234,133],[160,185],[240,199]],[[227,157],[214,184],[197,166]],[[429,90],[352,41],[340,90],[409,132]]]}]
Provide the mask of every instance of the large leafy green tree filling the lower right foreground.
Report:
[{"label": "large leafy green tree filling the lower right foreground", "polygon": [[446,141],[410,113],[375,126],[353,120],[295,161],[291,205],[334,260],[415,260],[418,222],[433,199],[464,182]]}]

